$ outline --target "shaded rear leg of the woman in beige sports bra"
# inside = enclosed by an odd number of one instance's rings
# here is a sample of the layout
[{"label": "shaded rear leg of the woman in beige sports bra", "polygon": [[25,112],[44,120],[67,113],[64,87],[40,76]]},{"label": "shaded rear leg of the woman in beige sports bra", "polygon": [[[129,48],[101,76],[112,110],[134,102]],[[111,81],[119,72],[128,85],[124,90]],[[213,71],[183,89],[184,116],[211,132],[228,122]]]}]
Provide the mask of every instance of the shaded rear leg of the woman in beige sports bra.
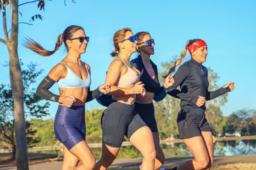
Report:
[{"label": "shaded rear leg of the woman in beige sports bra", "polygon": [[120,148],[113,148],[102,143],[102,157],[96,163],[94,170],[106,170],[115,160]]}]

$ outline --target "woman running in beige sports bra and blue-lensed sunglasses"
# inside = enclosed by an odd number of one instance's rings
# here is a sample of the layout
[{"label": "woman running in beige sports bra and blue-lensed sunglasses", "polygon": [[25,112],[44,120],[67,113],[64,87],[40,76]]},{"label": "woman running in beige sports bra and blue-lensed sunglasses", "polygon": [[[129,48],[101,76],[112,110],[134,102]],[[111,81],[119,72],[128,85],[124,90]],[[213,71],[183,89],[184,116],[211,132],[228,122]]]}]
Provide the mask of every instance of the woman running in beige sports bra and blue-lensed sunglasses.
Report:
[{"label": "woman running in beige sports bra and blue-lensed sunglasses", "polygon": [[[136,113],[136,94],[145,96],[144,84],[139,81],[140,72],[132,63],[131,55],[136,52],[137,37],[130,28],[117,31],[113,38],[116,57],[109,66],[105,82],[110,82],[114,102],[102,115],[102,157],[94,170],[107,169],[120,150],[124,135],[142,153],[142,170],[153,170],[156,151],[152,132]],[[119,52],[119,54],[118,54]]]}]

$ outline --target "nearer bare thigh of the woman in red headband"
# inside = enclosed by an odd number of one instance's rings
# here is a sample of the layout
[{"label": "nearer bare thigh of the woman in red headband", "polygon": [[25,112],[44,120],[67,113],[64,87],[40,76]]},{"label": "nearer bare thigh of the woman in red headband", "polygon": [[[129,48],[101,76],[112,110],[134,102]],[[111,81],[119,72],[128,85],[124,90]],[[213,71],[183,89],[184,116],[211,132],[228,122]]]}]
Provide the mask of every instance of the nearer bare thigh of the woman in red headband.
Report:
[{"label": "nearer bare thigh of the woman in red headband", "polygon": [[209,158],[207,148],[201,136],[183,139],[183,141],[197,162]]}]

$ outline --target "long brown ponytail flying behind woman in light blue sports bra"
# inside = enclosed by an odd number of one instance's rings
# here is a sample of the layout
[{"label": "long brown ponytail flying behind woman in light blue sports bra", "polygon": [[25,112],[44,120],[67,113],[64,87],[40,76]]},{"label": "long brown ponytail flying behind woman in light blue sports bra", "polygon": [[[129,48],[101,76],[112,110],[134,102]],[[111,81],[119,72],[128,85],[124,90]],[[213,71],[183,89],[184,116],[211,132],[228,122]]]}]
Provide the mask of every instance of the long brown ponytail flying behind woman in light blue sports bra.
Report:
[{"label": "long brown ponytail flying behind woman in light blue sports bra", "polygon": [[55,48],[53,51],[45,50],[45,48],[43,48],[40,44],[38,44],[36,41],[34,41],[31,38],[25,38],[22,44],[24,47],[36,52],[39,55],[50,56],[50,55],[53,55],[60,48],[60,46],[62,45],[62,38],[63,38],[63,35],[60,34],[58,36],[58,40],[55,44]]}]

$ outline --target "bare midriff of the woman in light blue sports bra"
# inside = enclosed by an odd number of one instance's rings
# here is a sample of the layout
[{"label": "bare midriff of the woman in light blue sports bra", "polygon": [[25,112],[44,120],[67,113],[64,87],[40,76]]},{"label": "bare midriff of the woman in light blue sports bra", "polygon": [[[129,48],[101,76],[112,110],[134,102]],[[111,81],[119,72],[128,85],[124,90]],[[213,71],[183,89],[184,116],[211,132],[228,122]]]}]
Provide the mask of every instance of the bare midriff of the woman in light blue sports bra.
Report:
[{"label": "bare midriff of the woman in light blue sports bra", "polygon": [[[88,95],[88,89],[85,87],[77,87],[77,88],[59,88],[60,96],[73,96],[76,98],[76,102],[72,105],[79,106],[85,105],[85,101]],[[64,105],[60,103],[60,105]]]}]

